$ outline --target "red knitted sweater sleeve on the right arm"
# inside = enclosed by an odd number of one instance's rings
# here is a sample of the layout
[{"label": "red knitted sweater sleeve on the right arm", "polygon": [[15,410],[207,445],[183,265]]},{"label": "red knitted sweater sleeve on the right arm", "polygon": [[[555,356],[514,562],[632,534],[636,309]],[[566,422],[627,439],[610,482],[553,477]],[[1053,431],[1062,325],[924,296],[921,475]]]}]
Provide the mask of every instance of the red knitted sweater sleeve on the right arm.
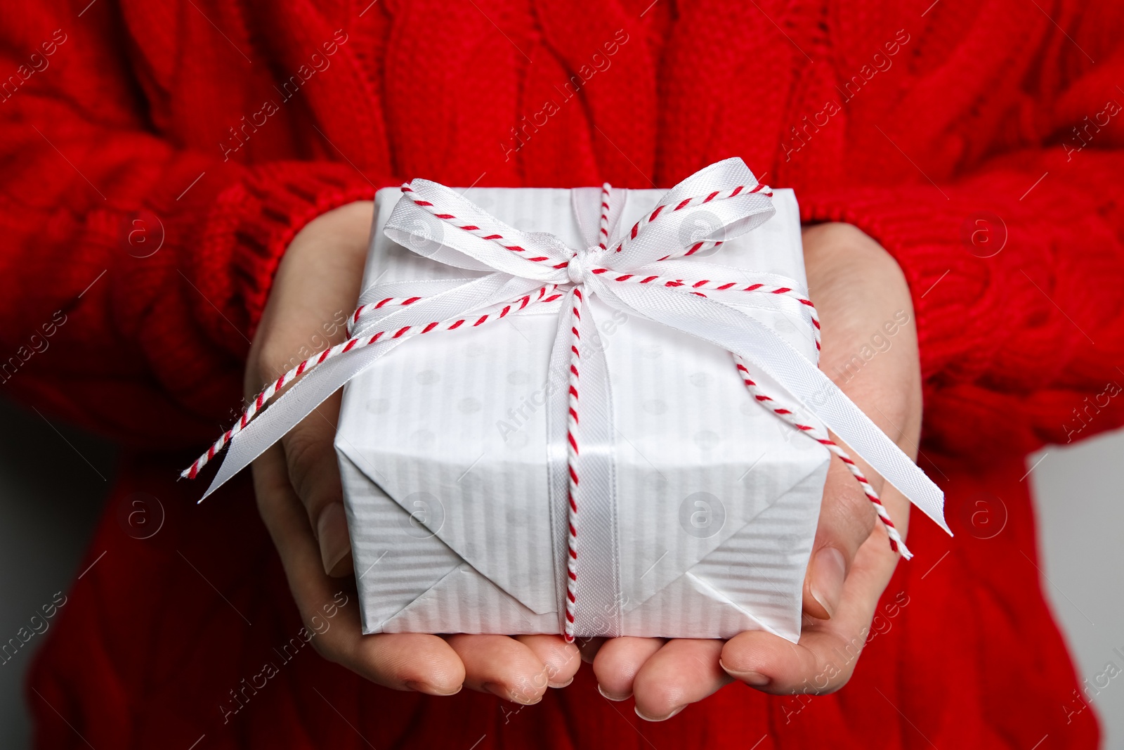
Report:
[{"label": "red knitted sweater sleeve on the right arm", "polygon": [[1059,13],[1006,92],[1017,116],[954,177],[801,196],[807,220],[854,224],[897,259],[925,441],[975,464],[1124,424],[1124,15]]}]

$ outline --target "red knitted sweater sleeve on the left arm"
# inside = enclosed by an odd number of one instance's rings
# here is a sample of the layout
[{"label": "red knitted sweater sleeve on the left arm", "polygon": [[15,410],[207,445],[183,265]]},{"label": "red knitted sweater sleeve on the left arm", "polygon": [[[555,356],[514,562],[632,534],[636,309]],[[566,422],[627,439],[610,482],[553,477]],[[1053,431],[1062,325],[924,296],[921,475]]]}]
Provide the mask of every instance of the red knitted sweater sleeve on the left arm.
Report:
[{"label": "red knitted sweater sleeve on the left arm", "polygon": [[126,441],[196,444],[239,403],[289,241],[390,180],[169,142],[125,31],[94,16],[92,33],[51,11],[0,28],[0,69],[18,76],[0,94],[0,394]]}]

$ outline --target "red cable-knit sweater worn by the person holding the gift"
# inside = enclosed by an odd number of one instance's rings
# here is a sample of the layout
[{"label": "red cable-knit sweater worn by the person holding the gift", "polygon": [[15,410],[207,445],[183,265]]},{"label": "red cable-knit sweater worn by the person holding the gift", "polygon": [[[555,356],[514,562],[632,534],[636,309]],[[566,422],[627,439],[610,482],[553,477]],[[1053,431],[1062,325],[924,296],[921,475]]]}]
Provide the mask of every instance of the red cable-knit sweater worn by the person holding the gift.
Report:
[{"label": "red cable-knit sweater worn by the person holding the gift", "polygon": [[[30,678],[42,747],[1093,746],[1018,477],[1124,422],[1120,3],[87,2],[0,27],[0,382],[144,451],[117,496],[167,519],[138,541],[107,514]],[[913,525],[851,685],[733,686],[655,726],[588,670],[506,714],[283,660],[300,624],[248,484],[196,507],[172,479],[239,404],[293,234],[404,178],[667,187],[732,155],[898,259],[922,463],[968,532]]]}]

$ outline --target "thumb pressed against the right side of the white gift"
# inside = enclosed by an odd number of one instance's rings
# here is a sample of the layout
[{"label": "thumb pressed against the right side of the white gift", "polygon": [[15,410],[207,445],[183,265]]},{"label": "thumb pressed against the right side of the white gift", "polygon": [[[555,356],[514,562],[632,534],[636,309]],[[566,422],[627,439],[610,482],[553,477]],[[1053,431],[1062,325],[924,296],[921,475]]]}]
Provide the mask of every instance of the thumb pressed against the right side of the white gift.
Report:
[{"label": "thumb pressed against the right side of the white gift", "polygon": [[854,557],[877,522],[870,499],[843,462],[833,455],[804,578],[806,614],[821,620],[835,615]]}]

